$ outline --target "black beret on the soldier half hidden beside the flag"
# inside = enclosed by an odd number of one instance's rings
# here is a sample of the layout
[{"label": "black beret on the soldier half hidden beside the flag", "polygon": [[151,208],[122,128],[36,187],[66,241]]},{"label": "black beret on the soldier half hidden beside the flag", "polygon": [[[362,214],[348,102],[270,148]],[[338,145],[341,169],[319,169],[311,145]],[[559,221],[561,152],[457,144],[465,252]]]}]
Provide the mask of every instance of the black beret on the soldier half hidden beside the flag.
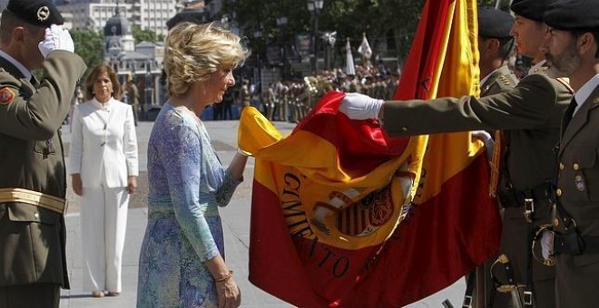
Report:
[{"label": "black beret on the soldier half hidden beside the flag", "polygon": [[491,7],[478,8],[478,35],[484,37],[511,37],[514,16]]}]

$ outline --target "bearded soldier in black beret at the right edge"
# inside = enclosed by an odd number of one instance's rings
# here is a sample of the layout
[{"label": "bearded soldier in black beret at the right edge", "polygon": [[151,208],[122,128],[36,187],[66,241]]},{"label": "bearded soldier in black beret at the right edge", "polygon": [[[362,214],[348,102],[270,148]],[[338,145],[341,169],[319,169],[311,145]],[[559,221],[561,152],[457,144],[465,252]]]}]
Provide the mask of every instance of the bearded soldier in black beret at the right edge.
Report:
[{"label": "bearded soldier in black beret at the right edge", "polygon": [[599,307],[599,1],[556,0],[544,20],[547,73],[575,91],[557,153],[557,307]]}]

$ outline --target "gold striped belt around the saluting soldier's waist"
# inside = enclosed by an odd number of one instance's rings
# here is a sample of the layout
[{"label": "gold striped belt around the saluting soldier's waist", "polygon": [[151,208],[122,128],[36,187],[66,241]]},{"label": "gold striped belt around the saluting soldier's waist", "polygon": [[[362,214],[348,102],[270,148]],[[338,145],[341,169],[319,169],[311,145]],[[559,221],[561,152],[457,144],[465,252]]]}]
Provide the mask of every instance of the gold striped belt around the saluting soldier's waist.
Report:
[{"label": "gold striped belt around the saluting soldier's waist", "polygon": [[0,188],[0,203],[2,202],[26,203],[63,215],[66,212],[66,200],[64,198],[24,188]]}]

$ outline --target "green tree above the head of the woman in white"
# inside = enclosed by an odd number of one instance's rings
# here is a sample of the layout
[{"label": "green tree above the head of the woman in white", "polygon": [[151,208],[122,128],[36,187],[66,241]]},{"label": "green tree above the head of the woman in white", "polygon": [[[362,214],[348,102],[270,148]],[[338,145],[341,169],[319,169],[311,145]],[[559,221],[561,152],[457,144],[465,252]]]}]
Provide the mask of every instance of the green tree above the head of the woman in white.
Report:
[{"label": "green tree above the head of the woman in white", "polygon": [[104,35],[102,33],[73,30],[71,36],[73,36],[75,53],[79,54],[87,64],[87,72],[95,65],[103,63]]}]

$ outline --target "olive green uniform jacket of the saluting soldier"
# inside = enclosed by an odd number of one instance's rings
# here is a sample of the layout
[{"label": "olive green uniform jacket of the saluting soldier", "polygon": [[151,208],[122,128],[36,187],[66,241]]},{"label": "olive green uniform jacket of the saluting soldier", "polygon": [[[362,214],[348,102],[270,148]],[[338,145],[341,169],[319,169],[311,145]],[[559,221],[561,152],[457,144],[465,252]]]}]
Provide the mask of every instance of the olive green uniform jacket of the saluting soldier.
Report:
[{"label": "olive green uniform jacket of the saluting soldier", "polygon": [[[0,58],[0,188],[25,188],[65,197],[60,127],[75,83],[85,71],[74,53],[54,51],[44,61],[39,88]],[[6,90],[5,90],[6,92]],[[0,286],[53,283],[69,287],[64,217],[28,204],[0,203]]]}]

